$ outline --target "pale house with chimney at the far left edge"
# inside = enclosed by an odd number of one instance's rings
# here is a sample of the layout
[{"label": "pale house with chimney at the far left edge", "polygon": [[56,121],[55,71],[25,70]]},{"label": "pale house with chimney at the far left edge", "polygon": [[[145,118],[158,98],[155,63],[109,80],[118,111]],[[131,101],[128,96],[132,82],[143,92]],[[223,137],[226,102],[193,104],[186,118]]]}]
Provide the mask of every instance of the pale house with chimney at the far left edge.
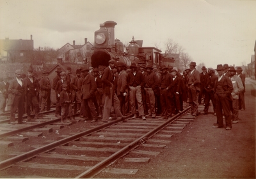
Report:
[{"label": "pale house with chimney at the far left edge", "polygon": [[32,35],[30,39],[0,39],[0,61],[20,62],[26,54],[34,50]]}]

